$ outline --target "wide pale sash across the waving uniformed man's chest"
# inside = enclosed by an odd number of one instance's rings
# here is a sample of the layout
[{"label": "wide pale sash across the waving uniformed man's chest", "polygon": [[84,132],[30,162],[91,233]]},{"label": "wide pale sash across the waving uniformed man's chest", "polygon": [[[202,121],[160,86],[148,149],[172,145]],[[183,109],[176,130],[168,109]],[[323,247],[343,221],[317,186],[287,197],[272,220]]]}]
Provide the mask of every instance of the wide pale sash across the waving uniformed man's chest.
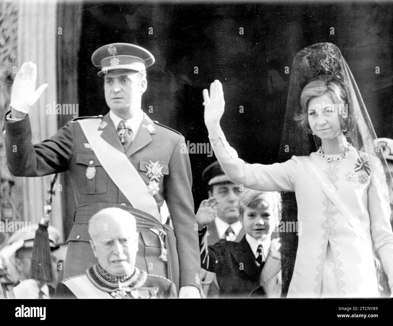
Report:
[{"label": "wide pale sash across the waving uniformed man's chest", "polygon": [[83,119],[78,122],[95,156],[131,205],[160,220],[157,202],[129,158],[101,138],[102,131],[98,130],[101,120]]}]

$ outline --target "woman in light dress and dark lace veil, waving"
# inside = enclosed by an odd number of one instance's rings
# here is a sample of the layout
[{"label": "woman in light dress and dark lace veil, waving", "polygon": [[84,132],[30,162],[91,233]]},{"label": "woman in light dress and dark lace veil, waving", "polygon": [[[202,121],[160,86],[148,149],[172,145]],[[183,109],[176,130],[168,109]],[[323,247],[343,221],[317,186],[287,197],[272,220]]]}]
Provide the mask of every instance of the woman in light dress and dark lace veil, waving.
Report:
[{"label": "woman in light dress and dark lace veil, waving", "polygon": [[[386,161],[374,147],[375,132],[340,50],[314,44],[294,59],[287,110],[299,128],[290,138],[309,139],[303,130],[321,146],[305,153],[299,148],[308,146],[301,144],[293,152],[298,156],[286,162],[246,164],[220,128],[221,83],[215,80],[203,96],[209,139],[230,181],[295,192],[302,233],[288,297],[378,297],[374,253],[393,290],[390,176],[387,180]],[[295,129],[284,132],[290,130]]]}]

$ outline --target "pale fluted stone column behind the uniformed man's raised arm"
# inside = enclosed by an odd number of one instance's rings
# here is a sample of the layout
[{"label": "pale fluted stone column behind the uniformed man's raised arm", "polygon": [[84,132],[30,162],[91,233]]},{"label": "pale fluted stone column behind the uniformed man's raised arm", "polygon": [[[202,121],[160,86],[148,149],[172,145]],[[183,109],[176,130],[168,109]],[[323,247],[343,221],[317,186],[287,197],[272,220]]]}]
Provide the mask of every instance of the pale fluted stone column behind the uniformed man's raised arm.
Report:
[{"label": "pale fluted stone column behind the uniformed man's raised arm", "polygon": [[[46,114],[46,104],[57,103],[56,37],[57,1],[20,1],[18,16],[18,69],[23,62],[37,64],[37,87],[49,84],[29,113],[33,143],[41,142],[57,132],[57,116]],[[24,220],[38,223],[48,197],[53,175],[23,178]],[[57,188],[57,187],[56,187]],[[53,197],[51,225],[62,234],[59,194]]]}]

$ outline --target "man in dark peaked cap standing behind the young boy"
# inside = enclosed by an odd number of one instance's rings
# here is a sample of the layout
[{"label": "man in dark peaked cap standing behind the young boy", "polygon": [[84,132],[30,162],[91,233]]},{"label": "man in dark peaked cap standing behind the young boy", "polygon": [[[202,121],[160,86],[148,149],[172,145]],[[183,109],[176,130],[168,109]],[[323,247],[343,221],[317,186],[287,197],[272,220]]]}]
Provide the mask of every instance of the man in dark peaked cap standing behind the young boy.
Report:
[{"label": "man in dark peaked cap standing behind the young boy", "polygon": [[[228,180],[218,161],[202,172],[202,178],[208,184],[209,199],[202,201],[199,209],[212,197],[217,206],[217,216],[208,224],[208,244],[215,244],[220,239],[239,242],[246,234],[239,221],[240,186]],[[201,281],[206,297],[218,297],[219,286],[215,273],[202,270]]]}]

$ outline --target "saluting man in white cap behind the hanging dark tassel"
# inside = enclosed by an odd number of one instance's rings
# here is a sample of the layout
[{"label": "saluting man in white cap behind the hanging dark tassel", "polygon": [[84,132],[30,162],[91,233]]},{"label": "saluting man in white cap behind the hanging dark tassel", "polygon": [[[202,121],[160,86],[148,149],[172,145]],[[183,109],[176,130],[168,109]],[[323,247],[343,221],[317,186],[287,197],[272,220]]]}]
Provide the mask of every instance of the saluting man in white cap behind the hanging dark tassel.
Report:
[{"label": "saluting man in white cap behind the hanging dark tassel", "polygon": [[[54,297],[56,282],[51,285],[40,284],[30,279],[31,254],[33,253],[33,242],[38,224],[27,226],[15,232],[0,251],[2,270],[7,270],[11,275],[4,275],[1,282],[3,293],[7,298],[17,299],[50,299]],[[53,226],[48,228],[50,250],[59,248],[60,233]],[[53,274],[56,271],[56,257],[51,255]],[[13,267],[9,262],[13,261]],[[5,274],[5,273],[4,273]],[[15,274],[15,275],[12,275]],[[12,281],[11,281],[12,279]]]}]

